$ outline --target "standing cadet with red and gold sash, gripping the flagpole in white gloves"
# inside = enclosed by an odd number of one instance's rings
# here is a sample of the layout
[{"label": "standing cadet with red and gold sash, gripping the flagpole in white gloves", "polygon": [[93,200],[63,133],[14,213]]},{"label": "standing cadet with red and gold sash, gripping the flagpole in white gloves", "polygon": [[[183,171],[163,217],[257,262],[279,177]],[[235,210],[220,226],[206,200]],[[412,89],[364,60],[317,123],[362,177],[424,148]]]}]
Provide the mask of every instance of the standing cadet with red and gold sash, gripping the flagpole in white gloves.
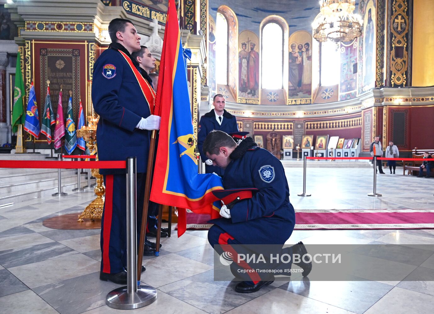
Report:
[{"label": "standing cadet with red and gold sash, gripping the flagpole in white gloves", "polygon": [[[109,24],[112,43],[95,62],[92,103],[99,114],[96,130],[99,160],[137,158],[137,224],[141,223],[150,134],[160,117],[151,115],[155,93],[132,63],[140,36],[128,19]],[[105,203],[101,221],[101,280],[126,284],[126,178],[125,169],[100,169]],[[142,268],[143,271],[143,268]]]}]

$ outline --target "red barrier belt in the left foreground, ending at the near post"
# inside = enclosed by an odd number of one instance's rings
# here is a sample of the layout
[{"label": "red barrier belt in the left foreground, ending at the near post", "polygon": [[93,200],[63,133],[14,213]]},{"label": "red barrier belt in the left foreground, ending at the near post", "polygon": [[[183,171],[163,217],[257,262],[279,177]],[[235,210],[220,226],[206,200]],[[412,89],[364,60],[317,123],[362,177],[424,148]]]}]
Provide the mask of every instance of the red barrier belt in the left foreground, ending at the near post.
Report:
[{"label": "red barrier belt in the left foreground, ending at the near post", "polygon": [[0,160],[0,168],[43,168],[43,169],[125,169],[124,161],[59,162],[51,160]]}]

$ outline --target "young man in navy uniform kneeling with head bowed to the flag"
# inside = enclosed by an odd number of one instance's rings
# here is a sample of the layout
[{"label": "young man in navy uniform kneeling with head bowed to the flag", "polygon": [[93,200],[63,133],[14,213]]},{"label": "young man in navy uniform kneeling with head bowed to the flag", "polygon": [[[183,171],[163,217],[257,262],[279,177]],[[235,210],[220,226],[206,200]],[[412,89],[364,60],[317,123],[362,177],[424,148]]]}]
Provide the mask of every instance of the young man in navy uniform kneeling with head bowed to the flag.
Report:
[{"label": "young man in navy uniform kneeling with head bowed to the flag", "polygon": [[[208,232],[210,244],[213,247],[215,244],[283,246],[293,232],[295,212],[289,202],[289,187],[282,163],[267,150],[256,146],[250,137],[237,145],[221,131],[208,134],[203,149],[213,165],[225,169],[225,189],[257,189],[253,197],[242,199],[230,208],[221,207],[223,218],[211,220],[215,225]],[[306,254],[301,242],[290,249],[291,253]],[[312,263],[296,265],[303,269],[303,276],[312,269]],[[237,284],[235,291],[254,292],[274,281],[274,277],[261,278],[257,273],[249,274],[249,277],[251,280]]]}]

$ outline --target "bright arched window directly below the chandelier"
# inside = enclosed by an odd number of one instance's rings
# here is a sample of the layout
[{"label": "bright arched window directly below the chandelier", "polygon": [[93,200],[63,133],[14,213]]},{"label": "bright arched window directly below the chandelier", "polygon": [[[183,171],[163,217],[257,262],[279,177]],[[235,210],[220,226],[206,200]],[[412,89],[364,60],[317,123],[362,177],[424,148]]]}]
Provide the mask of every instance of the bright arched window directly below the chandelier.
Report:
[{"label": "bright arched window directly below the chandelier", "polygon": [[321,86],[339,84],[341,53],[334,42],[321,43]]}]

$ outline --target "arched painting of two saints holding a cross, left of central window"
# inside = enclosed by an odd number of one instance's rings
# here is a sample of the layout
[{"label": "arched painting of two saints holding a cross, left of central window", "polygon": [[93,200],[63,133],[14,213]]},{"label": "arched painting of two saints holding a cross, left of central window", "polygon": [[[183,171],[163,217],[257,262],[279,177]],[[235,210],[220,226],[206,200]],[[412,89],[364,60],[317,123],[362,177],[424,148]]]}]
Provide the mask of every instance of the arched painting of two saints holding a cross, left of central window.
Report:
[{"label": "arched painting of two saints holding a cross, left of central window", "polygon": [[[244,30],[238,37],[238,102],[257,104],[259,97],[259,38]],[[255,99],[256,101],[252,100]]]}]

